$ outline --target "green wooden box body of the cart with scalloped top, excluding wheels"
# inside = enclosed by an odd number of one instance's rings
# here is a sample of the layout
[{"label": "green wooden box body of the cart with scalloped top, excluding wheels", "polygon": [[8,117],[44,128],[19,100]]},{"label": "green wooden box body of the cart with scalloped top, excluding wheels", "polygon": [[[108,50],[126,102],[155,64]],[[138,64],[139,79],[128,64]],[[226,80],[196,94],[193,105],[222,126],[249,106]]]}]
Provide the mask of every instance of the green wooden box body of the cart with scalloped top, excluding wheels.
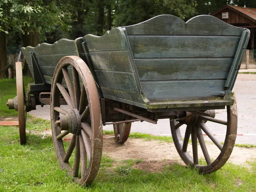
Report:
[{"label": "green wooden box body of the cart with scalloped top, excluding wheels", "polygon": [[248,29],[209,15],[187,22],[159,15],[101,37],[22,50],[26,59],[35,53],[49,84],[61,57],[79,55],[105,98],[148,109],[208,107],[233,104],[230,90],[249,37]]}]

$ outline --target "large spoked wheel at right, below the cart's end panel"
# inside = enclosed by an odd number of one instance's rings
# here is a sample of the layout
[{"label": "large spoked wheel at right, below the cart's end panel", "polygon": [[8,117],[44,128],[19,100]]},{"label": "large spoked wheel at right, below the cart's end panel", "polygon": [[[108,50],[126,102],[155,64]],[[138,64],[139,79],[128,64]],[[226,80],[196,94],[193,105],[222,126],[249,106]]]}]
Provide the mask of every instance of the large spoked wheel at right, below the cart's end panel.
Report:
[{"label": "large spoked wheel at right, below the cart's end panel", "polygon": [[[204,113],[209,114],[209,111],[205,111]],[[226,120],[214,118],[215,113],[211,116],[204,116],[204,114],[202,115],[200,113],[193,114],[193,112],[192,115],[189,112],[186,113],[188,118],[183,122],[170,121],[172,138],[181,159],[186,163],[186,165],[198,168],[201,173],[217,171],[227,162],[235,145],[237,131],[236,101],[234,105],[227,106]],[[216,124],[222,125],[223,128],[226,128],[227,131],[223,145],[212,134],[209,126],[207,126],[207,124],[210,125],[211,123],[212,128],[215,128]],[[184,139],[181,135],[182,127],[186,130]],[[204,131],[208,139],[215,144],[215,150],[219,151],[218,156],[213,157],[213,153],[207,150],[208,143],[205,142],[202,131]],[[190,144],[189,141],[190,136],[192,144]],[[202,159],[198,158],[198,152],[200,152],[198,150],[198,141],[201,146],[201,152],[203,153]],[[192,148],[189,149],[191,145]]]}]

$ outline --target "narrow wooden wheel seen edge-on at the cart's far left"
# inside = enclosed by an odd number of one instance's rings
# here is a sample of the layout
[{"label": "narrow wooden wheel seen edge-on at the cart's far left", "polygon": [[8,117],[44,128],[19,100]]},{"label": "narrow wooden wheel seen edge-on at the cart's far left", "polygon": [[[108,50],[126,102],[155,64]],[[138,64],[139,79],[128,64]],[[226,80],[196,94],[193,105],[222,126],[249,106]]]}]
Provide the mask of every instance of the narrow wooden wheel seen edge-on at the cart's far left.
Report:
[{"label": "narrow wooden wheel seen edge-on at the cart's far left", "polygon": [[26,101],[22,76],[22,63],[16,62],[16,85],[17,85],[17,109],[19,119],[20,144],[26,144]]}]

